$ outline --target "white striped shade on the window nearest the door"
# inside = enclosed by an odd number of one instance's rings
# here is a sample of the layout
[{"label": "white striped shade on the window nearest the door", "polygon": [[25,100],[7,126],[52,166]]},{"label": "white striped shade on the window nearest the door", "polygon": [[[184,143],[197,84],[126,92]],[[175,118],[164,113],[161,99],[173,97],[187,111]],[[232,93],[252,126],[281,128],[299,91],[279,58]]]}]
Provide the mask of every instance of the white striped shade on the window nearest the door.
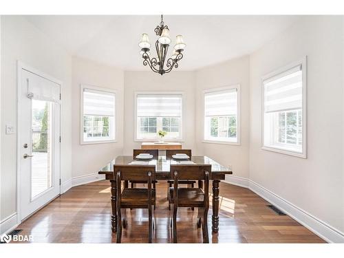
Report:
[{"label": "white striped shade on the window nearest the door", "polygon": [[115,100],[112,92],[84,88],[84,116],[115,116]]}]

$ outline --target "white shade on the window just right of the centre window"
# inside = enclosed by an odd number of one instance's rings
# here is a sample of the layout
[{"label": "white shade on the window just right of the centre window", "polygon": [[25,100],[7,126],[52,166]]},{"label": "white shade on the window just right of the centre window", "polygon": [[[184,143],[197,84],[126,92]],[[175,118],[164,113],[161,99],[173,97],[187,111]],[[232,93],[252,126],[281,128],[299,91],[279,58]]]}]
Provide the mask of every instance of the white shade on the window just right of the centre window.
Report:
[{"label": "white shade on the window just right of the centre window", "polygon": [[206,92],[204,98],[206,116],[230,116],[237,114],[237,89]]}]

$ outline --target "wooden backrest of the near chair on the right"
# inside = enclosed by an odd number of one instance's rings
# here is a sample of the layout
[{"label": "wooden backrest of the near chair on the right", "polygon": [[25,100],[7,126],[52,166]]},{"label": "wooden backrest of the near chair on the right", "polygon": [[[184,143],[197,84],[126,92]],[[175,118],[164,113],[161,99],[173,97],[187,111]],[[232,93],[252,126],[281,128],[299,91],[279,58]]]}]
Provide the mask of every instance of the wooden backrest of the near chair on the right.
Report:
[{"label": "wooden backrest of the near chair on the right", "polygon": [[178,180],[205,180],[205,172],[208,171],[211,176],[211,165],[171,165],[170,178],[175,178],[175,172],[178,173]]}]

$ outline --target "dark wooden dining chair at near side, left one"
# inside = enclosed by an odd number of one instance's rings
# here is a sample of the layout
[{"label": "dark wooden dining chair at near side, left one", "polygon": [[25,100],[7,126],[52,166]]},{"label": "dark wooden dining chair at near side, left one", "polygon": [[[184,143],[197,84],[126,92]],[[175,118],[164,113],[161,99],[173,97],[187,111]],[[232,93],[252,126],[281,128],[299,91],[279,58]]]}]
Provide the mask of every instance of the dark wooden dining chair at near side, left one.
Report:
[{"label": "dark wooden dining chair at near side, left one", "polygon": [[[152,206],[155,206],[155,190],[152,182],[155,180],[155,165],[114,165],[114,178],[117,186],[117,243],[122,241],[122,228],[127,228],[127,208],[148,209],[148,239],[153,241]],[[139,180],[147,184],[144,188],[121,188],[121,182],[126,180]],[[125,209],[123,222],[121,209]],[[153,209],[154,210],[154,209]]]}]

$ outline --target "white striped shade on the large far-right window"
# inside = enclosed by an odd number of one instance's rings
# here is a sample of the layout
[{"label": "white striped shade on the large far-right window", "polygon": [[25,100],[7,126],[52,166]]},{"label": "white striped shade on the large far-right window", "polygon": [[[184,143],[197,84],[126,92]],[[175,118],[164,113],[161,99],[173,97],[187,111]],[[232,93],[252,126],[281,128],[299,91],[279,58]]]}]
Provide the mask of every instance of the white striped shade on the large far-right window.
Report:
[{"label": "white striped shade on the large far-right window", "polygon": [[264,80],[264,111],[302,108],[302,65]]}]

